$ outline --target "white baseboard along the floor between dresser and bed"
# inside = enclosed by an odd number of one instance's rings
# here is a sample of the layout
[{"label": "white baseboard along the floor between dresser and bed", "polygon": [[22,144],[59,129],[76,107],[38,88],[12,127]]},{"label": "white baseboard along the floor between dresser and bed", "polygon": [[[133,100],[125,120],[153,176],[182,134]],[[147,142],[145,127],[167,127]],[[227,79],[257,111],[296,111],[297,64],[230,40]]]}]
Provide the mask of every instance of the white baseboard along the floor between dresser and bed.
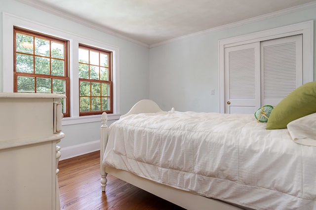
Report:
[{"label": "white baseboard along the floor between dresser and bed", "polygon": [[95,152],[97,150],[100,150],[100,140],[94,140],[74,146],[67,146],[60,149],[61,157],[59,160],[66,160],[68,158]]}]

